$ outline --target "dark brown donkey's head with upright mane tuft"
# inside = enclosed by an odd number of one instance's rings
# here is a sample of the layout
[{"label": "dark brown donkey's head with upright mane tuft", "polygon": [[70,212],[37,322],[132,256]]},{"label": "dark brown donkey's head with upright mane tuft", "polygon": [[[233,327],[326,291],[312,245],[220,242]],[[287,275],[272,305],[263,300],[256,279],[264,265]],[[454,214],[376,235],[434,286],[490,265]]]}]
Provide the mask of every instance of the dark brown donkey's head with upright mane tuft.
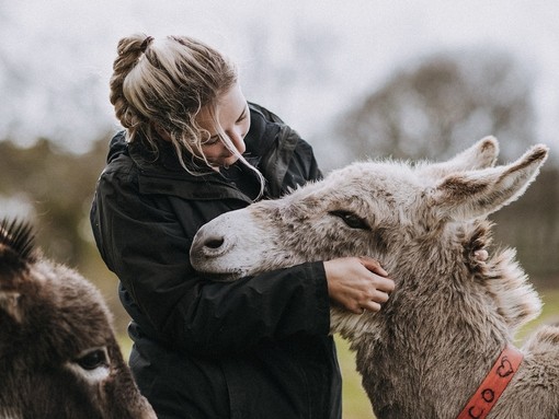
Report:
[{"label": "dark brown donkey's head with upright mane tuft", "polygon": [[100,292],[0,223],[0,418],[155,419]]}]

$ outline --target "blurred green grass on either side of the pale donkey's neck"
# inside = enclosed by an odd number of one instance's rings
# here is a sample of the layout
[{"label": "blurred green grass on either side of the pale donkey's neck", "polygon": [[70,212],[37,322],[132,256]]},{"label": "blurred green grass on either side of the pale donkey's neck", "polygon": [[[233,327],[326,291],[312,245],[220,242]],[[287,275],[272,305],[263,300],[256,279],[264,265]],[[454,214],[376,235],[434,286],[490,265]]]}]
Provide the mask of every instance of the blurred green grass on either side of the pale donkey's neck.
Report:
[{"label": "blurred green grass on either side of the pale donkey's neck", "polygon": [[[538,290],[544,301],[544,312],[534,322],[527,324],[516,336],[516,345],[522,346],[526,337],[543,323],[559,322],[559,289]],[[361,386],[361,376],[355,371],[355,356],[349,350],[347,342],[336,337],[338,358],[343,379],[343,419],[375,418],[365,391]]]}]

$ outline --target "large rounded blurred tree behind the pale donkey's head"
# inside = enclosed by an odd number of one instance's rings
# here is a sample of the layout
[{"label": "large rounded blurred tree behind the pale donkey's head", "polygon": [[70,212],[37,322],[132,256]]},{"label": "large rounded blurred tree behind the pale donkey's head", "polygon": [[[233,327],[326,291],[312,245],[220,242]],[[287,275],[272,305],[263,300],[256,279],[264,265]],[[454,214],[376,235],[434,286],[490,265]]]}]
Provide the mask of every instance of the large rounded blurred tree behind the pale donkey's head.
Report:
[{"label": "large rounded blurred tree behind the pale donkey's head", "polygon": [[335,129],[351,158],[446,159],[489,133],[501,158],[534,143],[529,74],[495,49],[436,54],[410,62],[350,108]]}]

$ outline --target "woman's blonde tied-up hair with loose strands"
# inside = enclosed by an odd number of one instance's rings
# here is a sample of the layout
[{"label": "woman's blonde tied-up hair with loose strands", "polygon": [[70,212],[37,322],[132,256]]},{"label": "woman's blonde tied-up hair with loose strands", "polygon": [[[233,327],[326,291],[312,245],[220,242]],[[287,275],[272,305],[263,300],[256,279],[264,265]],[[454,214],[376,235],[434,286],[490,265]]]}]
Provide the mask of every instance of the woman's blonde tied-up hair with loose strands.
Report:
[{"label": "woman's blonde tied-up hair with loose strands", "polygon": [[167,36],[153,43],[151,36],[137,34],[118,42],[110,100],[129,142],[142,135],[157,152],[155,139],[160,127],[168,133],[182,166],[193,174],[201,173],[189,168],[185,155],[199,156],[210,167],[202,150],[210,133],[196,123],[201,109],[207,108],[224,144],[256,173],[260,197],[264,187],[262,174],[239,153],[216,117],[217,101],[237,81],[235,65],[197,39]]}]

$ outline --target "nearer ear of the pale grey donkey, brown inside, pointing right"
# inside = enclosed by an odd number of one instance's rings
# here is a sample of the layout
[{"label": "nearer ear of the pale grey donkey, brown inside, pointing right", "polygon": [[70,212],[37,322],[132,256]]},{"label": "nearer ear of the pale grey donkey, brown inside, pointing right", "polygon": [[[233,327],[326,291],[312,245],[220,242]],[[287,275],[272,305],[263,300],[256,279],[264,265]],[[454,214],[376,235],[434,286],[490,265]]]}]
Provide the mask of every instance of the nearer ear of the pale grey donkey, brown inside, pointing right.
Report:
[{"label": "nearer ear of the pale grey donkey, brown inside, pointing right", "polygon": [[489,216],[524,194],[548,150],[538,144],[509,165],[450,174],[432,190],[430,203],[453,220]]}]

